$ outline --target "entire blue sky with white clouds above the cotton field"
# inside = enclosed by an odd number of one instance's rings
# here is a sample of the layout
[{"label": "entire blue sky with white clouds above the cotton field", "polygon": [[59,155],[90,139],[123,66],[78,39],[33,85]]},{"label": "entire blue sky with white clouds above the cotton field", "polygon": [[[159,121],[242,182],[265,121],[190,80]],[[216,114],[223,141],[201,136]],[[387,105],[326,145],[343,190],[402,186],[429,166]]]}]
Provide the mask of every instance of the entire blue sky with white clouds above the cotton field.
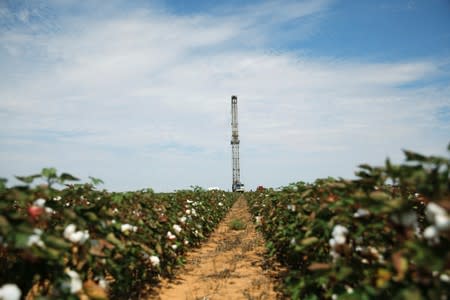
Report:
[{"label": "entire blue sky with white clouds above the cotton field", "polygon": [[0,0],[0,177],[112,191],[354,178],[448,157],[447,0]]}]

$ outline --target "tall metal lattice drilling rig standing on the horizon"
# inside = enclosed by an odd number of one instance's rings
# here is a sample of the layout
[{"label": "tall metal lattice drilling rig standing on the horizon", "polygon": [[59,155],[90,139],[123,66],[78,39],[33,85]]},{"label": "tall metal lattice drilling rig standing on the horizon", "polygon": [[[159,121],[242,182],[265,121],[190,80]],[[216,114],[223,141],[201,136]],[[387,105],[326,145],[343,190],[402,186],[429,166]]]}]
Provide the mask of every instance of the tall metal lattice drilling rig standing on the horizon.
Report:
[{"label": "tall metal lattice drilling rig standing on the horizon", "polygon": [[237,123],[237,97],[231,96],[231,151],[233,159],[233,192],[244,192],[239,168],[239,131]]}]

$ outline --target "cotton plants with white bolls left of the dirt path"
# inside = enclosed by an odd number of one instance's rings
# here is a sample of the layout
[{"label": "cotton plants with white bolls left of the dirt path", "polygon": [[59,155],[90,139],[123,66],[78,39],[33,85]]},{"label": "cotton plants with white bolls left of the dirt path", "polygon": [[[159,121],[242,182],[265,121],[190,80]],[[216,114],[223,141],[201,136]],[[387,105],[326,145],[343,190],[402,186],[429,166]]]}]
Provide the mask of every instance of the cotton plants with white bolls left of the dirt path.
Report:
[{"label": "cotton plants with white bolls left of the dirt path", "polygon": [[[138,299],[231,207],[219,190],[111,193],[69,174],[0,185],[0,299]],[[34,180],[46,181],[32,185]]]}]

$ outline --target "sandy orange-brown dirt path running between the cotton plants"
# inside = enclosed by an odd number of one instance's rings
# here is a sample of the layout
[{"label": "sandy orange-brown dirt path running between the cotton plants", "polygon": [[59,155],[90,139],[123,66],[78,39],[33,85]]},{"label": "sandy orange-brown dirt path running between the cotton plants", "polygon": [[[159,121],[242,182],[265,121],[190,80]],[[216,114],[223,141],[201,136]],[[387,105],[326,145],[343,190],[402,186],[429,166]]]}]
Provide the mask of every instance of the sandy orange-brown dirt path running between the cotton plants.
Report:
[{"label": "sandy orange-brown dirt path running between the cotton plants", "polygon": [[[241,220],[246,228],[233,230]],[[207,242],[189,253],[175,280],[150,299],[276,299],[270,271],[263,270],[264,241],[240,197]]]}]

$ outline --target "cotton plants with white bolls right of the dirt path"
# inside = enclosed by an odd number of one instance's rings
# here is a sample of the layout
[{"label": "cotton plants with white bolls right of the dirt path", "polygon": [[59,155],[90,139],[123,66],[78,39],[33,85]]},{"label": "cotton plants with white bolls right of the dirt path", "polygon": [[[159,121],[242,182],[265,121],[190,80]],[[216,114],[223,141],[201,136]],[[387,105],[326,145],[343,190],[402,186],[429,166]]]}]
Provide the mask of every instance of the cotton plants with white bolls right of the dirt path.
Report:
[{"label": "cotton plants with white bolls right of the dirt path", "polygon": [[356,180],[248,194],[289,298],[450,298],[450,161],[405,154]]}]

